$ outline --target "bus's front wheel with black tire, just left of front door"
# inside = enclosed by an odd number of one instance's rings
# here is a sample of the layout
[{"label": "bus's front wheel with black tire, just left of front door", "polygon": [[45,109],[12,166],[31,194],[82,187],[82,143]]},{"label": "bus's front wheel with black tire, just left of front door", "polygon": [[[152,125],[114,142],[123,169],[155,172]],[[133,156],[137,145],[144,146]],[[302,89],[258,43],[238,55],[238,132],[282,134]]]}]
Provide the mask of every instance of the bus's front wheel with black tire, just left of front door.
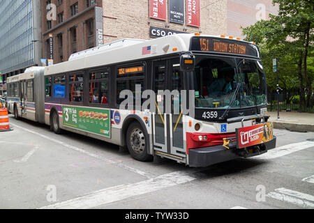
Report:
[{"label": "bus's front wheel with black tire, just left of front door", "polygon": [[142,130],[140,123],[131,123],[126,132],[126,144],[128,151],[135,160],[142,162],[153,159],[152,155],[148,154],[149,139]]}]

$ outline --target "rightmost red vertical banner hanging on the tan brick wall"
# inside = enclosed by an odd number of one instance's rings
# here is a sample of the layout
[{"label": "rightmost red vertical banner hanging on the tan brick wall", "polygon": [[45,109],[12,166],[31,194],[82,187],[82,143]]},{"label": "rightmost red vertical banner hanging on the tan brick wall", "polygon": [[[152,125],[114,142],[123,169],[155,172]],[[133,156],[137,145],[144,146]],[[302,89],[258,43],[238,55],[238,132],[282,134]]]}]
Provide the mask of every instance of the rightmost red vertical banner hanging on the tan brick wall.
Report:
[{"label": "rightmost red vertical banner hanging on the tan brick wall", "polygon": [[200,27],[200,0],[186,0],[186,24]]}]

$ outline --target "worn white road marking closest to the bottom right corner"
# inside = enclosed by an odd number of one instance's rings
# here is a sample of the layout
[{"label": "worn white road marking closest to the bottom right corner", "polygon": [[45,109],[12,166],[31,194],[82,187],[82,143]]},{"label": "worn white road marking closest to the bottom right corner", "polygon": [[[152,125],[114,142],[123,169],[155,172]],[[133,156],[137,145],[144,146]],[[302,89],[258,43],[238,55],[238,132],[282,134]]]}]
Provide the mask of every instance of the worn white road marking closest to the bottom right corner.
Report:
[{"label": "worn white road marking closest to the bottom right corner", "polygon": [[266,196],[303,208],[314,208],[314,197],[311,194],[304,194],[284,187],[276,189],[275,192],[269,192]]}]

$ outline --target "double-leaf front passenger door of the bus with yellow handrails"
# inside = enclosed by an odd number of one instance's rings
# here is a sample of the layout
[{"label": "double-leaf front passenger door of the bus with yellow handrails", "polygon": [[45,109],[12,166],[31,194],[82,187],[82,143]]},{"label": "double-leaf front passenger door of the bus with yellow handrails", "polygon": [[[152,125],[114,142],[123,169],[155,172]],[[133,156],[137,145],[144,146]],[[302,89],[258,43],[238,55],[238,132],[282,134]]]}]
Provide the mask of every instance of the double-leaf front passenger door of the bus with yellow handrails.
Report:
[{"label": "double-leaf front passenger door of the bus with yellow handrails", "polygon": [[[180,93],[184,79],[180,71],[179,59],[156,61],[154,69],[154,92],[156,93],[156,112],[153,115],[154,150],[184,159],[184,125],[180,107],[180,95],[174,93],[166,100],[165,91]],[[168,105],[166,105],[166,103]]]}]

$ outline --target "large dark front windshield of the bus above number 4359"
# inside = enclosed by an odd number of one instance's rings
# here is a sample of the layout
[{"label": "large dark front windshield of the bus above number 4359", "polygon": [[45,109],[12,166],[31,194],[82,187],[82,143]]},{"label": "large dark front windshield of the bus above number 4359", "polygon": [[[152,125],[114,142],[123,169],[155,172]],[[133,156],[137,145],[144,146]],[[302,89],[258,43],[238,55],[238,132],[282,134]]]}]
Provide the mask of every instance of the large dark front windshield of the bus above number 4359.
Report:
[{"label": "large dark front windshield of the bus above number 4359", "polygon": [[266,77],[260,61],[196,56],[195,62],[195,107],[221,109],[266,104]]}]

